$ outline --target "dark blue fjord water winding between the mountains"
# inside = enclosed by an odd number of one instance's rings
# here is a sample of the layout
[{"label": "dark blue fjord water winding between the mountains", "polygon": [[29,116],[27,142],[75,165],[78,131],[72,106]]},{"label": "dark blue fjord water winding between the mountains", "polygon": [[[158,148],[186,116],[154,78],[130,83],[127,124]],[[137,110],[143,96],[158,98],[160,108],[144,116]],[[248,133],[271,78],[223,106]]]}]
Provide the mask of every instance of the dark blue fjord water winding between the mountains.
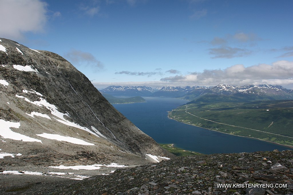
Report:
[{"label": "dark blue fjord water winding between the mountains", "polygon": [[290,149],[258,139],[224,134],[169,119],[167,111],[185,104],[186,100],[161,97],[143,98],[147,102],[114,104],[113,106],[158,143],[174,143],[176,147],[203,154]]}]

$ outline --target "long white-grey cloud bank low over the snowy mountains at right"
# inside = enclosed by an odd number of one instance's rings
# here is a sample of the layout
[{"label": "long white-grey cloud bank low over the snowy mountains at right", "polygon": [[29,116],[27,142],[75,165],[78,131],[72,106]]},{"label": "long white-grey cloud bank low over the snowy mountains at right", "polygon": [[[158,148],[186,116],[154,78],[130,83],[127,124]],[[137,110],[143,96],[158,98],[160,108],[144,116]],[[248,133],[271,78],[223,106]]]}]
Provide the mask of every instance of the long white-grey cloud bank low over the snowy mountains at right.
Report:
[{"label": "long white-grey cloud bank low over the snowy mountains at right", "polygon": [[181,83],[193,85],[217,85],[226,83],[230,85],[244,84],[276,84],[293,85],[293,61],[276,61],[269,64],[258,64],[245,67],[236,64],[226,69],[204,70],[188,75],[176,75],[161,78],[161,81],[169,83]]}]

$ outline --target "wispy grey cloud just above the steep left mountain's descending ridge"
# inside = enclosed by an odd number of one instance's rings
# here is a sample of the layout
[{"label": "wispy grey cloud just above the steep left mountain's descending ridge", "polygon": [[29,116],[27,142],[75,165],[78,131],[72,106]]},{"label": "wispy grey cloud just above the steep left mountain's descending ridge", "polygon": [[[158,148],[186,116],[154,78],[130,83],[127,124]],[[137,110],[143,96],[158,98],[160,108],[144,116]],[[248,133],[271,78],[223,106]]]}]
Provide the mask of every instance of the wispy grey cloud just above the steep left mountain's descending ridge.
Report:
[{"label": "wispy grey cloud just above the steep left mountain's descending ridge", "polygon": [[71,49],[64,57],[68,59],[74,66],[87,66],[94,71],[103,69],[104,65],[98,61],[93,54],[88,52],[82,52],[76,49]]}]

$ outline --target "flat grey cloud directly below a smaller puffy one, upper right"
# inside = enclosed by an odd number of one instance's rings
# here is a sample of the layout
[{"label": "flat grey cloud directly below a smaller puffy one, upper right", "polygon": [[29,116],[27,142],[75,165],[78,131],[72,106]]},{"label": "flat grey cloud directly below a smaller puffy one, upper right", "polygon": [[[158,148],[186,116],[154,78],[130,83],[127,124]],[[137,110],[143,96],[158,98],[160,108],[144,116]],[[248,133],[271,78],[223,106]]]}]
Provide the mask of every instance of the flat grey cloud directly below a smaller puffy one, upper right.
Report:
[{"label": "flat grey cloud directly below a smaller puffy one, upper right", "polygon": [[212,58],[234,58],[245,57],[252,53],[248,49],[241,49],[238,47],[218,47],[209,49],[209,54],[213,55]]}]

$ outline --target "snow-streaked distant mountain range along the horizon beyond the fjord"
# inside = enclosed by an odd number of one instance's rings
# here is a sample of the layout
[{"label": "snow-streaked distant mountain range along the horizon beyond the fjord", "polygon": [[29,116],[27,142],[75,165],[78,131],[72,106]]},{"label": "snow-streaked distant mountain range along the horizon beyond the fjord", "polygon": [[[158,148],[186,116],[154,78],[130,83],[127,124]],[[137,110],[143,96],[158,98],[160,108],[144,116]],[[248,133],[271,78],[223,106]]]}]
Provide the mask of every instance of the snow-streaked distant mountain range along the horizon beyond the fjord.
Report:
[{"label": "snow-streaked distant mountain range along the horizon beyond the fjord", "polygon": [[174,87],[164,86],[160,90],[149,86],[109,86],[102,93],[114,96],[152,96],[182,98],[195,100],[203,95],[231,95],[238,98],[251,100],[292,100],[293,90],[283,88],[280,85],[243,85],[231,86],[220,83],[214,87],[186,86]]}]

